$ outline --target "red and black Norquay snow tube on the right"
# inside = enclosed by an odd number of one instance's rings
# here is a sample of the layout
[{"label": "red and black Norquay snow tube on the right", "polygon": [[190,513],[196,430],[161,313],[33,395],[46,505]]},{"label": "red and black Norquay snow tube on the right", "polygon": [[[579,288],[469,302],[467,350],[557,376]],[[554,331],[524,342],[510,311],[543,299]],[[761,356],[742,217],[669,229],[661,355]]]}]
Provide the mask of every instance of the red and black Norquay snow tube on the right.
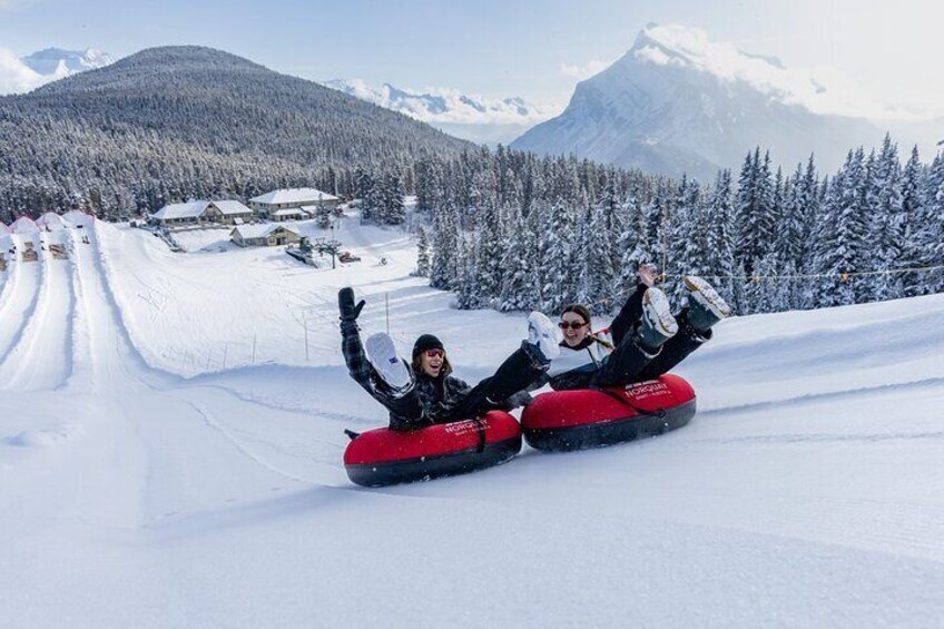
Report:
[{"label": "red and black Norquay snow tube on the right", "polygon": [[521,414],[521,429],[529,445],[555,452],[655,436],[694,415],[691,385],[666,374],[625,387],[542,393]]}]

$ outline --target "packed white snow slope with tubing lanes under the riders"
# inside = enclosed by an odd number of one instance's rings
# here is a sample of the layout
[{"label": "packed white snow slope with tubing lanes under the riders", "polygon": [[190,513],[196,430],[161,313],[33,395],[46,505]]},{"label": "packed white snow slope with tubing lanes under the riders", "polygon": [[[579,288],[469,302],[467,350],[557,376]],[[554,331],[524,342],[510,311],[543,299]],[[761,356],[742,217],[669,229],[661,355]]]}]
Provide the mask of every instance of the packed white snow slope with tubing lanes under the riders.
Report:
[{"label": "packed white snow slope with tubing lanes under the riders", "polygon": [[944,625],[944,296],[722,322],[680,431],[364,490],[342,431],[385,420],[337,289],[469,381],[525,316],[452,309],[404,233],[343,223],[335,269],[78,214],[4,236],[40,253],[0,273],[4,627]]}]

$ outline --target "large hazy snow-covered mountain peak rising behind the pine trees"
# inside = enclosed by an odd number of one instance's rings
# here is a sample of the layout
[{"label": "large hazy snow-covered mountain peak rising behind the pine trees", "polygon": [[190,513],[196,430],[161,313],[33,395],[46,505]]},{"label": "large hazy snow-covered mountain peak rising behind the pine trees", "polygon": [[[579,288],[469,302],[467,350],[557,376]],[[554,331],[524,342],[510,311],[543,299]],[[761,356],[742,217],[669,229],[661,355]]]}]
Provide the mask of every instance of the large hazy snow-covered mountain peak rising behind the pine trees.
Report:
[{"label": "large hazy snow-covered mountain peak rising behind the pine trees", "polygon": [[[577,86],[563,114],[511,146],[711,180],[759,145],[787,168],[815,153],[832,170],[849,147],[874,146],[887,128],[908,129],[879,127],[866,114],[777,59],[712,42],[697,29],[649,26],[625,56]],[[915,138],[896,139],[909,146]]]}]

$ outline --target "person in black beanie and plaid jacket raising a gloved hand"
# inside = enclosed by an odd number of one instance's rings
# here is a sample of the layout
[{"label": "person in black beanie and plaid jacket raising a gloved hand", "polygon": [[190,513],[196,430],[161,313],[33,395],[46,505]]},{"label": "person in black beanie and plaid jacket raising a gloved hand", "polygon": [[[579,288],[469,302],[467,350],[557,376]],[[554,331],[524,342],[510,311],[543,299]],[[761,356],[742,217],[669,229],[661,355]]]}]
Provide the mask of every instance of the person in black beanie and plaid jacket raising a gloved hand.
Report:
[{"label": "person in black beanie and plaid jacket raising a gloved hand", "polygon": [[342,351],[351,377],[390,411],[392,430],[456,422],[527,403],[527,390],[543,381],[560,353],[557,327],[543,314],[532,313],[528,340],[492,376],[470,386],[452,375],[445,346],[432,334],[416,338],[409,364],[384,333],[367,337],[365,351],[356,323],[364,305],[354,303],[351,288],[338,293]]}]

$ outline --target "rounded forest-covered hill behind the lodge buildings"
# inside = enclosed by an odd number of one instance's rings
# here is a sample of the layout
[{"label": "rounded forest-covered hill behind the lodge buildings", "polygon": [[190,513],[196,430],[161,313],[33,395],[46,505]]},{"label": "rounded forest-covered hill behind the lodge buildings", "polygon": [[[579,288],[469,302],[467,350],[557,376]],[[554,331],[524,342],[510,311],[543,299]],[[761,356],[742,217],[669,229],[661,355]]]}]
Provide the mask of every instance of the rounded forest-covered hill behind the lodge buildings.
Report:
[{"label": "rounded forest-covered hill behind the lodge buildings", "polygon": [[[17,207],[70,207],[76,195],[128,216],[188,196],[327,189],[341,168],[400,168],[475,148],[407,116],[195,46],[142,50],[0,97],[0,118],[16,120],[0,126],[0,155],[12,165],[0,171],[0,217]],[[50,169],[60,176],[45,179]]]}]

